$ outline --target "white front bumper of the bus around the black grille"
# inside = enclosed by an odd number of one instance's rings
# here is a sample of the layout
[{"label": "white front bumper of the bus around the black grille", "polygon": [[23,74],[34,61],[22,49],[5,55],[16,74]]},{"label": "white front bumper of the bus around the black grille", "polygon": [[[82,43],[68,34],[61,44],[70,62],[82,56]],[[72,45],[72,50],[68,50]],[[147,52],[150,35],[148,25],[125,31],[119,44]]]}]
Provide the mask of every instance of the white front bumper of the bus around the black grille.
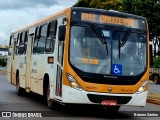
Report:
[{"label": "white front bumper of the bus around the black grille", "polygon": [[139,94],[111,94],[62,87],[62,102],[73,104],[102,104],[103,100],[116,100],[118,105],[145,106],[148,91]]}]

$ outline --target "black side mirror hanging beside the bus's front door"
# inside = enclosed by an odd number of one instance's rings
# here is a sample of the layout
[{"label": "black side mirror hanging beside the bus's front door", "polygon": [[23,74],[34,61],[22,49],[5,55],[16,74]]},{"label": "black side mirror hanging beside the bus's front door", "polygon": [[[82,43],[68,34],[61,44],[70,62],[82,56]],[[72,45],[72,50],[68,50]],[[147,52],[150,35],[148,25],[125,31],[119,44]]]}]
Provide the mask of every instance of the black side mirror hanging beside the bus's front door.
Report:
[{"label": "black side mirror hanging beside the bus's front door", "polygon": [[61,25],[58,28],[58,40],[59,41],[64,41],[66,36],[66,26]]}]

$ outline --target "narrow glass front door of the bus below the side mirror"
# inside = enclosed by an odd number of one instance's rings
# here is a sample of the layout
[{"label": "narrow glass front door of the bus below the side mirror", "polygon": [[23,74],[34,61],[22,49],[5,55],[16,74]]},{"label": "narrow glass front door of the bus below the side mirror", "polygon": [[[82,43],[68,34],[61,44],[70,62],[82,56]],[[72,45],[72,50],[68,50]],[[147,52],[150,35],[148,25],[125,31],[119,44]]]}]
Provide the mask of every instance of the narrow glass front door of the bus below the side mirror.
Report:
[{"label": "narrow glass front door of the bus below the side mirror", "polygon": [[[58,19],[58,29],[59,26],[63,25],[64,17]],[[59,32],[59,30],[58,30]],[[59,33],[58,33],[59,34]],[[65,33],[64,33],[65,34]],[[63,53],[64,53],[64,41],[58,40],[58,51],[57,51],[57,64],[56,64],[56,98],[62,98],[62,71],[63,71]]]}]

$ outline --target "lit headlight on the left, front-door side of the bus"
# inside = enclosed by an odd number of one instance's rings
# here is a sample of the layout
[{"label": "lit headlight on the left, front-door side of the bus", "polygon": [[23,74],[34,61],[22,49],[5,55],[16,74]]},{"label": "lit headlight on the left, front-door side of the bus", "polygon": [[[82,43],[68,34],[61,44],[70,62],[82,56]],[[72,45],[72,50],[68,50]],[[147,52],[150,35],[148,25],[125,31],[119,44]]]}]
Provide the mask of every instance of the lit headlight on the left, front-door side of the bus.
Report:
[{"label": "lit headlight on the left, front-door side of the bus", "polygon": [[82,87],[78,84],[78,82],[75,80],[75,78],[72,75],[68,73],[66,73],[66,75],[72,88],[82,90]]}]

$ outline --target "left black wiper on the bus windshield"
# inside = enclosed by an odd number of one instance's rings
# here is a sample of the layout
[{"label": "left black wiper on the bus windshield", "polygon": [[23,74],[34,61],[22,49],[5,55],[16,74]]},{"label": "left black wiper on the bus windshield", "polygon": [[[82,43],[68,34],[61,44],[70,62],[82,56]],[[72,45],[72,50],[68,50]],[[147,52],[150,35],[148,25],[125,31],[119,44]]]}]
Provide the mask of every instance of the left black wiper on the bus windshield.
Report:
[{"label": "left black wiper on the bus windshield", "polygon": [[104,35],[103,33],[100,34],[97,30],[96,27],[93,24],[90,24],[92,30],[94,31],[94,33],[96,34],[96,36],[99,38],[99,40],[106,45],[106,51],[107,51],[107,55],[108,55],[108,46],[107,46],[107,41],[104,39]]}]

